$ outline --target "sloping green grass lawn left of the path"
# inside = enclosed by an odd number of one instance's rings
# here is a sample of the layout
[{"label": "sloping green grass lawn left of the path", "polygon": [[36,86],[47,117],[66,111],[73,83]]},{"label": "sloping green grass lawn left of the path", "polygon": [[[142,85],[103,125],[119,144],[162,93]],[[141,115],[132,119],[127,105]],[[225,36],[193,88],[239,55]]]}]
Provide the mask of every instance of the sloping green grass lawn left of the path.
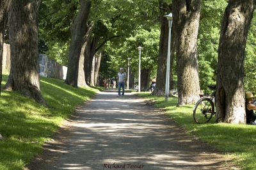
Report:
[{"label": "sloping green grass lawn left of the path", "polygon": [[[3,83],[7,76],[3,76]],[[42,151],[63,119],[95,95],[97,89],[72,88],[62,80],[41,77],[45,108],[19,93],[3,91],[0,99],[0,169],[24,169]]]}]

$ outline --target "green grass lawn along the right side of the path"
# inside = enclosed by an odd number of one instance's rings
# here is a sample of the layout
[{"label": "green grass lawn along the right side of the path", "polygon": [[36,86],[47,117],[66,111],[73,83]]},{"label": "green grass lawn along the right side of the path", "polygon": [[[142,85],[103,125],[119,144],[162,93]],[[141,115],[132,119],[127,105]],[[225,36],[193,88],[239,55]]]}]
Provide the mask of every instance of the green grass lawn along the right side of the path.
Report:
[{"label": "green grass lawn along the right side of the path", "polygon": [[[256,169],[256,126],[233,125],[229,123],[206,123],[198,125],[193,120],[193,105],[177,107],[177,98],[156,97],[150,93],[139,93],[143,98],[153,100],[155,107],[165,108],[166,113],[188,134],[196,135],[218,151],[232,157],[243,169]],[[214,120],[214,117],[212,118]]]}]

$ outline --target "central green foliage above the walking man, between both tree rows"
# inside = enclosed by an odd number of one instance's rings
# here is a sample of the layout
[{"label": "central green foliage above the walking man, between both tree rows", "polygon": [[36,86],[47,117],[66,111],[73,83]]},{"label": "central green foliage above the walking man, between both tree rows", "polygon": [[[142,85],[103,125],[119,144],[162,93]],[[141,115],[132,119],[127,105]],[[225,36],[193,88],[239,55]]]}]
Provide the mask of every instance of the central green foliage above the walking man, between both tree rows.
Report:
[{"label": "central green foliage above the walking man, between both tree rows", "polygon": [[93,1],[92,8],[91,19],[102,20],[108,28],[108,36],[104,39],[117,36],[104,46],[100,75],[116,77],[120,66],[127,68],[127,58],[131,58],[131,71],[134,74],[138,72],[136,48],[139,45],[146,49],[141,54],[142,68],[156,70],[153,60],[156,61],[159,41],[157,1]]}]

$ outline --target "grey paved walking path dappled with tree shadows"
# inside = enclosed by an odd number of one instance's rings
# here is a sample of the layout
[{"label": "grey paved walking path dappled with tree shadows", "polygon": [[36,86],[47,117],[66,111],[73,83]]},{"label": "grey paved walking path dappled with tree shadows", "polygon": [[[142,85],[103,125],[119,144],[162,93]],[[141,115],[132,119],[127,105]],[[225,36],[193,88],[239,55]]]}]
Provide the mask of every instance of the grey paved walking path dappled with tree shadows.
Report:
[{"label": "grey paved walking path dappled with tree shadows", "polygon": [[28,169],[232,169],[163,112],[116,95],[100,92],[77,108]]}]

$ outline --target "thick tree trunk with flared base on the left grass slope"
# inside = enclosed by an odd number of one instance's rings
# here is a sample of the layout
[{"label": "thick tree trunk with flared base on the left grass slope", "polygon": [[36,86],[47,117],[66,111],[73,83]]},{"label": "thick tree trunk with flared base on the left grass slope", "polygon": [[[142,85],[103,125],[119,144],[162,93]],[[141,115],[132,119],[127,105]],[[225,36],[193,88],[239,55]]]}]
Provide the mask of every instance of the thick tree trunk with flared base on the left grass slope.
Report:
[{"label": "thick tree trunk with flared base on the left grass slope", "polygon": [[45,104],[38,74],[38,8],[40,1],[17,0],[10,4],[11,70],[5,88],[19,91]]}]

